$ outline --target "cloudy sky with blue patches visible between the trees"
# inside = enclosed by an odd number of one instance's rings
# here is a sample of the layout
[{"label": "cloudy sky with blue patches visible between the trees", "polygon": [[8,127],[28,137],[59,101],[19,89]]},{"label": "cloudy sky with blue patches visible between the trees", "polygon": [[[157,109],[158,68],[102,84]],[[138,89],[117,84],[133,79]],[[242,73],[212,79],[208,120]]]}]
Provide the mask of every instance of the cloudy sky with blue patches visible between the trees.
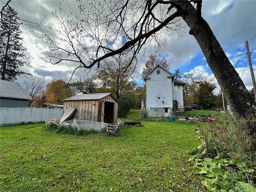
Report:
[{"label": "cloudy sky with blue patches visible between the trees", "polygon": [[[0,0],[1,8],[6,0]],[[46,10],[51,11],[62,5],[67,13],[72,12],[74,4],[71,0],[11,0],[9,3],[23,20],[40,20],[46,15]],[[224,52],[230,62],[242,78],[246,88],[252,89],[252,78],[248,66],[248,58],[245,49],[245,41],[249,42],[251,52],[252,66],[254,75],[256,75],[256,1],[255,0],[203,0],[202,17],[208,22],[217,40],[220,42]],[[50,20],[51,18],[49,18]],[[184,25],[183,36],[178,38],[176,35],[164,38],[168,45],[165,49],[165,58],[170,64],[170,72],[180,70],[182,74],[190,72],[202,72],[206,76],[214,76],[208,67],[208,64],[197,44],[195,38],[188,34],[189,28]],[[20,26],[22,30],[23,46],[27,48],[29,64],[22,67],[34,77],[44,77],[46,82],[52,79],[69,79],[72,73],[72,66],[68,64],[52,65],[43,62],[39,56],[43,50],[38,45],[36,38],[30,34],[30,28],[26,22]],[[155,52],[146,52],[138,61],[138,73],[142,71],[145,62],[150,54]],[[84,74],[94,74],[92,70],[80,71],[74,78],[84,76]],[[16,82],[22,83],[29,77],[19,76]],[[141,84],[142,80],[138,78]],[[215,92],[218,93],[220,87],[217,86]]]}]

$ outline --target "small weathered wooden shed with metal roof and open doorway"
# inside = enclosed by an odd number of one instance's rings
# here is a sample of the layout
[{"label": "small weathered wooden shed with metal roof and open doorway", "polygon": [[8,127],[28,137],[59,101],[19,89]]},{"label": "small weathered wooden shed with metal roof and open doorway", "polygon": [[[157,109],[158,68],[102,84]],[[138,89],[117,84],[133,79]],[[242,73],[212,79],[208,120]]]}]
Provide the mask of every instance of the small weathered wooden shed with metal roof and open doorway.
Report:
[{"label": "small weathered wooden shed with metal roof and open doorway", "polygon": [[76,108],[70,119],[116,123],[118,101],[111,93],[76,95],[63,101],[63,113],[68,106]]}]

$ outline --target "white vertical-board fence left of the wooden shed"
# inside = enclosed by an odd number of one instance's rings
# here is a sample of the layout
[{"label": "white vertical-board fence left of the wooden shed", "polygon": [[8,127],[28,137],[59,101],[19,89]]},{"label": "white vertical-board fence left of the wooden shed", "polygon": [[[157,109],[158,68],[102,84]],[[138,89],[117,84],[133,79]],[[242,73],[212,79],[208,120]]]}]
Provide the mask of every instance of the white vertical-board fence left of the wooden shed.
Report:
[{"label": "white vertical-board fence left of the wooden shed", "polygon": [[46,119],[60,119],[62,114],[63,109],[0,107],[0,126],[44,122]]}]

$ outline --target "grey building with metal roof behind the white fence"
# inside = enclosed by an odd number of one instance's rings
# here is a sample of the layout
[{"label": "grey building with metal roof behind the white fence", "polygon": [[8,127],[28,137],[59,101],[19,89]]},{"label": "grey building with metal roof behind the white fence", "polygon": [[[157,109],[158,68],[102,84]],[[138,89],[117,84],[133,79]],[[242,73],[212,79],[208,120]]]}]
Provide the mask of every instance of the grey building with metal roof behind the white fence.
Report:
[{"label": "grey building with metal roof behind the white fence", "polygon": [[0,80],[0,107],[28,107],[30,100],[19,83]]}]

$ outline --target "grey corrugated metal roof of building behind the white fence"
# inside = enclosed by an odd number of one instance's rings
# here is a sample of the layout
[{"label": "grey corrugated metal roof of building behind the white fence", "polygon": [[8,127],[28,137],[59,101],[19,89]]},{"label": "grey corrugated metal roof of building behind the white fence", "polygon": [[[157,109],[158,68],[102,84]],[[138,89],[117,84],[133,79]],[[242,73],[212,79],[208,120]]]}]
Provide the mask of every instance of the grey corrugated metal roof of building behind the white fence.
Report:
[{"label": "grey corrugated metal roof of building behind the white fence", "polygon": [[0,97],[32,100],[19,83],[6,80],[0,80]]}]

